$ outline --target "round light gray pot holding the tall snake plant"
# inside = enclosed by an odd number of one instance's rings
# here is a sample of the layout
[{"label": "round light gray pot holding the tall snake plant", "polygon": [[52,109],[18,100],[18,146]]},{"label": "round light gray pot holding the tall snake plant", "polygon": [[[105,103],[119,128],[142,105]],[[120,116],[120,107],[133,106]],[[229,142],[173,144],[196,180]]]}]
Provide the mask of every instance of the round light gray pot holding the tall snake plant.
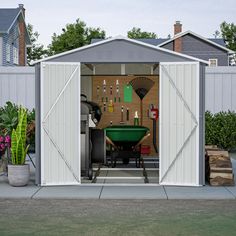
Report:
[{"label": "round light gray pot holding the tall snake plant", "polygon": [[8,165],[8,181],[15,187],[25,186],[29,183],[30,166],[25,165]]}]

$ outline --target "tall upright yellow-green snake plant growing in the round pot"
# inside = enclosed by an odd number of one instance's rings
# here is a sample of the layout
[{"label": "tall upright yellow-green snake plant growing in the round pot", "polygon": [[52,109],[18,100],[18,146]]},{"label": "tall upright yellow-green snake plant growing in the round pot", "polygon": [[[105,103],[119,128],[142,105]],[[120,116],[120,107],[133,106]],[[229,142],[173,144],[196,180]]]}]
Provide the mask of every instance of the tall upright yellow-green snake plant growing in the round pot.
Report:
[{"label": "tall upright yellow-green snake plant growing in the round pot", "polygon": [[18,124],[11,135],[12,164],[23,165],[29,149],[26,147],[27,110],[20,107],[18,111]]}]

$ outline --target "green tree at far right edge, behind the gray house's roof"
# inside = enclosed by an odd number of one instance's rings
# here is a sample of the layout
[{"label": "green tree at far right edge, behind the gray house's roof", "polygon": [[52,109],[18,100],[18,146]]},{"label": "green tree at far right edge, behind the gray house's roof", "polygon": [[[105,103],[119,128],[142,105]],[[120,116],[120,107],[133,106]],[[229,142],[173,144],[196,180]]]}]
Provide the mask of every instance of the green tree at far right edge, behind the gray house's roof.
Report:
[{"label": "green tree at far right edge, behind the gray house's roof", "polygon": [[226,43],[226,47],[236,51],[236,25],[233,23],[221,23],[220,30]]}]

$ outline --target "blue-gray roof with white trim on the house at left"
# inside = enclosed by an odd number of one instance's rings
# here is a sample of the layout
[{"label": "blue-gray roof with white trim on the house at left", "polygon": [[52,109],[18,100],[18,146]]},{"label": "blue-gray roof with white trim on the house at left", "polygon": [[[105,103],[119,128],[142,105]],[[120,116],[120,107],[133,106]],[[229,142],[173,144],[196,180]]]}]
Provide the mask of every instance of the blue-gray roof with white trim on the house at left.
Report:
[{"label": "blue-gray roof with white trim on the house at left", "polygon": [[[0,9],[0,33],[2,34],[9,34],[12,26],[17,21],[19,17],[22,17],[24,24],[25,19],[22,13],[21,8],[1,8]],[[26,29],[26,45],[31,45],[30,36],[27,31],[27,27],[25,24]]]}]

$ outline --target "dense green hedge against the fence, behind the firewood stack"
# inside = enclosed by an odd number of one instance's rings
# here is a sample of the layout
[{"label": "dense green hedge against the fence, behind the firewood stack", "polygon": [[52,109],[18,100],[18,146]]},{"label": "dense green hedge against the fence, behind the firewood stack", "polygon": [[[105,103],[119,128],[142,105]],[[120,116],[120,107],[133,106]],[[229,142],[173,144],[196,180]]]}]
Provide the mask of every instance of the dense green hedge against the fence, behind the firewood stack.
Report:
[{"label": "dense green hedge against the fence, behind the firewood stack", "polygon": [[205,139],[207,145],[232,150],[236,148],[236,113],[205,113]]}]

